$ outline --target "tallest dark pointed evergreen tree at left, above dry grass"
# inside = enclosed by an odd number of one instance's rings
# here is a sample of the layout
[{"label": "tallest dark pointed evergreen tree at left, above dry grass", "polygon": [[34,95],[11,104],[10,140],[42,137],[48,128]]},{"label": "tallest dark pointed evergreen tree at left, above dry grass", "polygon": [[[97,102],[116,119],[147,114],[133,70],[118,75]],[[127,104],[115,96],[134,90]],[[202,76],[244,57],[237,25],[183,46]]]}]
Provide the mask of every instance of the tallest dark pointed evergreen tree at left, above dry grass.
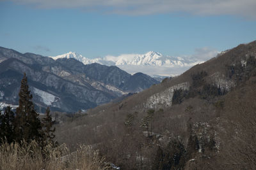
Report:
[{"label": "tallest dark pointed evergreen tree at left, above dry grass", "polygon": [[33,96],[30,94],[28,78],[26,73],[21,80],[19,92],[19,107],[16,109],[15,117],[15,140],[24,139],[29,142],[35,139],[38,143],[42,141],[42,125],[38,118],[32,102]]}]

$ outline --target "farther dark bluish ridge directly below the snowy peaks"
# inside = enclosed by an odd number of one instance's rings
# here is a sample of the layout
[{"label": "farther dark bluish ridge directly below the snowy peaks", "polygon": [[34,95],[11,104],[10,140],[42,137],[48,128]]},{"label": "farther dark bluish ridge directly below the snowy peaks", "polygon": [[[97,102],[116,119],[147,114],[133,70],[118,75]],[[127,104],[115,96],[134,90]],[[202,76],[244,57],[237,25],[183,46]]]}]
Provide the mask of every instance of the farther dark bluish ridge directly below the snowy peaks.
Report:
[{"label": "farther dark bluish ridge directly below the snowy peaks", "polygon": [[75,59],[58,59],[57,62],[70,67],[74,71],[84,73],[90,80],[113,85],[125,92],[140,92],[153,84],[159,83],[143,73],[136,73],[131,76],[131,74],[116,66],[104,66],[97,63],[83,65]]}]

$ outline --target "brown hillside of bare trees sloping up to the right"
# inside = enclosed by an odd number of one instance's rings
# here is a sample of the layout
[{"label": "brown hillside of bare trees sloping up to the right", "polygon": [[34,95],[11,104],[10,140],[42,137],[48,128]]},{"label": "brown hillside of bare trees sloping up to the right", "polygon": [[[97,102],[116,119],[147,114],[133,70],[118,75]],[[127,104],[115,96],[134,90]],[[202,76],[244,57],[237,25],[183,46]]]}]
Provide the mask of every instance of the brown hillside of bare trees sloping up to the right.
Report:
[{"label": "brown hillside of bare trees sloping up to the right", "polygon": [[256,41],[56,125],[121,169],[255,169]]}]

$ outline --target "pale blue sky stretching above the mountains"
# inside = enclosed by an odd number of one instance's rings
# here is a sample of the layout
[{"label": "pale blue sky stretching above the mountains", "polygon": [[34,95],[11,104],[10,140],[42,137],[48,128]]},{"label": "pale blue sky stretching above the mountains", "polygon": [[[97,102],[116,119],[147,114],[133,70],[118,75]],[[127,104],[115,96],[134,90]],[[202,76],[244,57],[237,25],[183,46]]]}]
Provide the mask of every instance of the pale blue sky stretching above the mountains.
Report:
[{"label": "pale blue sky stretching above the mountains", "polygon": [[22,53],[55,56],[72,51],[94,58],[153,50],[178,56],[256,40],[256,3],[250,0],[245,0],[248,9],[241,1],[216,13],[207,10],[207,3],[194,10],[182,4],[166,10],[164,6],[173,4],[20,1],[0,0],[0,46]]}]

